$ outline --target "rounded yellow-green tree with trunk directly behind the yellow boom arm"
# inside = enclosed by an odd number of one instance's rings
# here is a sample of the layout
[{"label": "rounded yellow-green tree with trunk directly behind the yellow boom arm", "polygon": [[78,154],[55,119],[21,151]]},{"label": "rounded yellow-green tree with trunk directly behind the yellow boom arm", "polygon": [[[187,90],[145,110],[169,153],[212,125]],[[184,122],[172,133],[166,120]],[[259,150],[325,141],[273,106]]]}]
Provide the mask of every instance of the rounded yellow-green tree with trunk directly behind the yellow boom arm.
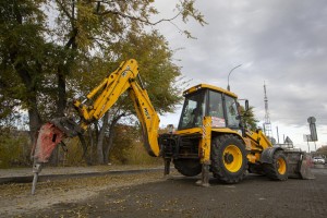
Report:
[{"label": "rounded yellow-green tree with trunk directly behind the yellow boom arm", "polygon": [[[97,64],[92,65],[94,71],[73,75],[73,77],[76,76],[74,84],[78,84],[78,89],[89,92],[108,75],[108,72],[116,70],[114,68],[121,60],[136,57],[140,64],[140,75],[148,90],[154,107],[159,113],[172,111],[173,106],[181,99],[181,90],[174,85],[177,77],[180,75],[180,68],[172,63],[173,52],[169,49],[166,39],[156,31],[138,36],[130,34],[124,43],[113,45],[110,49],[111,52],[116,50],[120,51],[119,61],[110,62],[110,55],[108,55],[108,58],[97,58]],[[76,88],[76,85],[73,85],[73,87]],[[86,95],[87,93],[83,93],[83,96]],[[135,116],[133,104],[129,96],[124,95],[121,96],[121,99],[109,113],[106,113],[99,122],[96,122],[92,130],[96,132],[98,164],[109,161],[108,155],[112,147],[114,125],[120,119],[131,114]],[[109,140],[104,145],[106,132]]]}]

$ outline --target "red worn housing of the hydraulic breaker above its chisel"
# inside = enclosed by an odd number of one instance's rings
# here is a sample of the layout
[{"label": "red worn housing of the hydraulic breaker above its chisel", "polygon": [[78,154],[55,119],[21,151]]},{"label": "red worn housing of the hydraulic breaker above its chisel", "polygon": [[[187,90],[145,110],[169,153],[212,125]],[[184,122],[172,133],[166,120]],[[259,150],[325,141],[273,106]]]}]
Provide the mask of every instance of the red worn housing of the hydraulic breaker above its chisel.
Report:
[{"label": "red worn housing of the hydraulic breaker above its chisel", "polygon": [[48,162],[55,147],[64,138],[64,133],[52,123],[44,124],[38,133],[34,149],[36,162]]}]

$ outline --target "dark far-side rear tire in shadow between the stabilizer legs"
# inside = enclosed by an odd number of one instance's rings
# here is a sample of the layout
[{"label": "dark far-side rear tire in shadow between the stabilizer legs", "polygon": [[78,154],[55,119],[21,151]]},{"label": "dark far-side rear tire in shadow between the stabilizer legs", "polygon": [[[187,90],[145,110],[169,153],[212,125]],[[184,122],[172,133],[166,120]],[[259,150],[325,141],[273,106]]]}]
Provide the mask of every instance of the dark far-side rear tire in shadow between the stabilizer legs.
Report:
[{"label": "dark far-side rear tire in shadow between the stabilizer legs", "polygon": [[195,177],[202,172],[202,165],[198,159],[175,159],[173,165],[185,177]]}]

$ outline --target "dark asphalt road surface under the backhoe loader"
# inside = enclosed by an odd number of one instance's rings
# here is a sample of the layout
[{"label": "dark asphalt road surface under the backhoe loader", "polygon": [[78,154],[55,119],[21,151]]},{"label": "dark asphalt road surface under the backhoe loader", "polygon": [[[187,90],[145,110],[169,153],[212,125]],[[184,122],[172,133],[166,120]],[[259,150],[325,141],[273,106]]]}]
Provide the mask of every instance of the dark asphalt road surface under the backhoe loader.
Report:
[{"label": "dark asphalt road surface under the backhoe loader", "polygon": [[23,217],[327,217],[327,169],[315,180],[270,181],[249,174],[234,185],[173,175],[169,180],[102,190],[74,203],[59,203]]}]

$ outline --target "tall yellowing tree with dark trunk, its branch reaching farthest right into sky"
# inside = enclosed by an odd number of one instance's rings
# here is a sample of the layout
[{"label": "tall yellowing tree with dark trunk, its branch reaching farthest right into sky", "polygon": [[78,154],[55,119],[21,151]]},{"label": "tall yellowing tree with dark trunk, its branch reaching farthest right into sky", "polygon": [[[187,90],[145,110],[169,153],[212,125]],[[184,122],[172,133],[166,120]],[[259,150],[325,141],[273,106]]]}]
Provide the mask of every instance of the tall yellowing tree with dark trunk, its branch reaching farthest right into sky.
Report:
[{"label": "tall yellowing tree with dark trunk, its branch reaching farthest right into sky", "polygon": [[[205,24],[203,15],[194,8],[194,0],[179,1],[178,14],[174,17],[152,22],[150,16],[158,13],[153,2],[153,0],[56,0],[55,10],[58,10],[59,16],[56,21],[55,37],[64,45],[63,49],[68,55],[57,72],[58,116],[63,114],[65,108],[68,98],[65,80],[66,75],[77,70],[73,68],[77,66],[75,64],[77,56],[90,57],[96,51],[109,51],[110,58],[117,60],[120,53],[110,50],[112,45],[126,40],[126,36],[131,33],[143,34],[145,26],[171,21],[179,15],[184,22],[193,17],[199,24]],[[184,33],[191,36],[189,32]]]}]

